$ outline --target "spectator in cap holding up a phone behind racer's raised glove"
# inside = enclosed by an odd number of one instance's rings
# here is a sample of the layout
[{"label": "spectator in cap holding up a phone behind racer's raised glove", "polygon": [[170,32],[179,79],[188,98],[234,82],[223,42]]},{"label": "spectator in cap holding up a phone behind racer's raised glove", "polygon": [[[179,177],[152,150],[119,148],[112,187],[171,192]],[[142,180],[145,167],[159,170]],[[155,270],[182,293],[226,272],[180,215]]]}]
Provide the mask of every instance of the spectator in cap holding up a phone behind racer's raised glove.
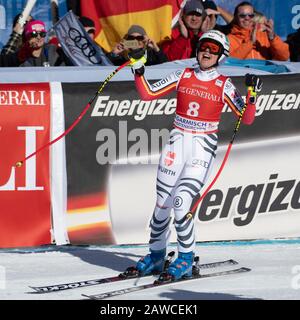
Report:
[{"label": "spectator in cap holding up a phone behind racer's raised glove", "polygon": [[143,49],[146,49],[147,52],[147,65],[168,61],[157,43],[149,38],[145,29],[140,25],[130,26],[123,39],[115,45],[107,56],[114,65],[120,66],[128,60],[128,52]]}]

